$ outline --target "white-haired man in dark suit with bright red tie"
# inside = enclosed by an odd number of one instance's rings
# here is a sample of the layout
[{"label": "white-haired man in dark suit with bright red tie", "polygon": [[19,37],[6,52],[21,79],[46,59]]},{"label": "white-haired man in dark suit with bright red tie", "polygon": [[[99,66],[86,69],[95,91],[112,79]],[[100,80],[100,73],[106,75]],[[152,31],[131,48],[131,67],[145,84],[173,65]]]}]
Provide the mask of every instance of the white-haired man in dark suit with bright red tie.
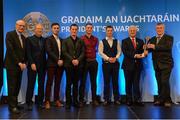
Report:
[{"label": "white-haired man in dark suit with bright red tie", "polygon": [[142,70],[142,58],[145,57],[144,42],[136,37],[136,26],[130,26],[128,32],[129,37],[122,40],[122,51],[124,54],[122,69],[124,70],[126,81],[126,102],[127,105],[132,105],[133,103],[143,105],[139,81]]}]

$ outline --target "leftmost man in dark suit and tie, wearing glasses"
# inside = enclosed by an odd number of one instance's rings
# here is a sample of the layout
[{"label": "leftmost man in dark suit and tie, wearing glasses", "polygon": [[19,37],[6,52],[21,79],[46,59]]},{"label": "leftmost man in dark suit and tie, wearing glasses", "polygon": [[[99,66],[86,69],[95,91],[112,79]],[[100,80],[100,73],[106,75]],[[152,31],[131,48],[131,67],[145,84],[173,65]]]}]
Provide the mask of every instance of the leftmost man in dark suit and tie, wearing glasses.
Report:
[{"label": "leftmost man in dark suit and tie, wearing glasses", "polygon": [[26,68],[26,42],[22,33],[25,30],[25,22],[18,20],[16,30],[6,34],[5,68],[7,70],[8,104],[12,113],[20,113],[17,96],[19,94],[22,71]]}]

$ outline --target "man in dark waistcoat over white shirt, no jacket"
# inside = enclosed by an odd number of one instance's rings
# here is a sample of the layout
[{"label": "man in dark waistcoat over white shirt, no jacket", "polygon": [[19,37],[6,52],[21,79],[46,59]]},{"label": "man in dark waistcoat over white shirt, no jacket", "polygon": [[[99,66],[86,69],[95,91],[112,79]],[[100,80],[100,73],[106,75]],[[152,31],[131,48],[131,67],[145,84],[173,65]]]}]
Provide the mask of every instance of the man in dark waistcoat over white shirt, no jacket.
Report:
[{"label": "man in dark waistcoat over white shirt, no jacket", "polygon": [[111,102],[110,83],[112,80],[114,104],[120,105],[119,101],[119,61],[121,55],[120,43],[113,37],[113,27],[106,27],[106,37],[99,43],[99,53],[102,57],[102,70],[104,77],[104,103],[108,105]]}]

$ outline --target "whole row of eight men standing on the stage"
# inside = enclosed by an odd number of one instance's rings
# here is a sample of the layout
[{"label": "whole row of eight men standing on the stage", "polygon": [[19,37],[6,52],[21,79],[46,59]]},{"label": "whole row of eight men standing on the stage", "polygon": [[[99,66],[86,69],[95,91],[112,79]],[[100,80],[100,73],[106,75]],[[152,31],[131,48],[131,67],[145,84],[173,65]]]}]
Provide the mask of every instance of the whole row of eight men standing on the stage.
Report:
[{"label": "whole row of eight men standing on the stage", "polygon": [[[97,100],[97,70],[98,62],[96,52],[102,57],[102,70],[104,78],[104,102],[111,102],[110,82],[112,80],[114,104],[120,105],[118,75],[120,63],[118,58],[124,54],[122,69],[126,82],[127,105],[143,105],[139,88],[140,74],[143,69],[142,58],[152,52],[153,65],[158,83],[158,99],[155,104],[171,105],[169,77],[173,67],[172,44],[173,38],[164,34],[164,24],[156,25],[157,36],[144,44],[136,37],[136,26],[129,27],[129,37],[120,42],[113,37],[113,27],[106,27],[106,37],[102,41],[92,35],[93,25],[87,23],[86,34],[81,38],[77,36],[78,26],[70,26],[70,36],[65,40],[59,37],[60,25],[52,23],[52,35],[44,38],[42,24],[36,24],[34,35],[25,38],[25,22],[18,20],[16,30],[6,35],[5,67],[8,81],[8,103],[12,113],[20,113],[17,96],[21,86],[22,71],[27,68],[28,85],[26,104],[28,110],[33,108],[33,92],[36,77],[38,76],[39,108],[49,109],[51,86],[54,81],[54,102],[56,107],[63,106],[59,98],[60,83],[63,70],[66,72],[66,108],[84,106],[84,94],[87,74],[90,75],[92,104],[99,105]],[[160,38],[159,38],[160,37]],[[157,42],[158,41],[158,42]],[[46,57],[47,54],[47,57]],[[44,92],[45,75],[47,83]],[[78,85],[80,80],[80,86]],[[72,87],[71,87],[72,86]],[[72,88],[72,90],[71,90]],[[72,93],[71,93],[72,91]],[[45,102],[44,102],[45,94]],[[72,95],[72,96],[71,96]],[[45,104],[44,104],[45,103]]]}]

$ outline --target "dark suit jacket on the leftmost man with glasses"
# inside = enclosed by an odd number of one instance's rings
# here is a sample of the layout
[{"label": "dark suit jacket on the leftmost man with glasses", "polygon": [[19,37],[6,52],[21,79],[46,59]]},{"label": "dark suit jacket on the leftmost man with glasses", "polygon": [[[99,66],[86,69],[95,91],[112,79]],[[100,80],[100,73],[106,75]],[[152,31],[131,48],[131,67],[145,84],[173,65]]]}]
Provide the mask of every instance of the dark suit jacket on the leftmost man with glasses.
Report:
[{"label": "dark suit jacket on the leftmost man with glasses", "polygon": [[25,37],[21,35],[23,48],[19,40],[19,36],[16,32],[10,31],[6,34],[6,55],[5,55],[5,68],[17,69],[18,63],[25,63],[26,58],[26,41]]}]

